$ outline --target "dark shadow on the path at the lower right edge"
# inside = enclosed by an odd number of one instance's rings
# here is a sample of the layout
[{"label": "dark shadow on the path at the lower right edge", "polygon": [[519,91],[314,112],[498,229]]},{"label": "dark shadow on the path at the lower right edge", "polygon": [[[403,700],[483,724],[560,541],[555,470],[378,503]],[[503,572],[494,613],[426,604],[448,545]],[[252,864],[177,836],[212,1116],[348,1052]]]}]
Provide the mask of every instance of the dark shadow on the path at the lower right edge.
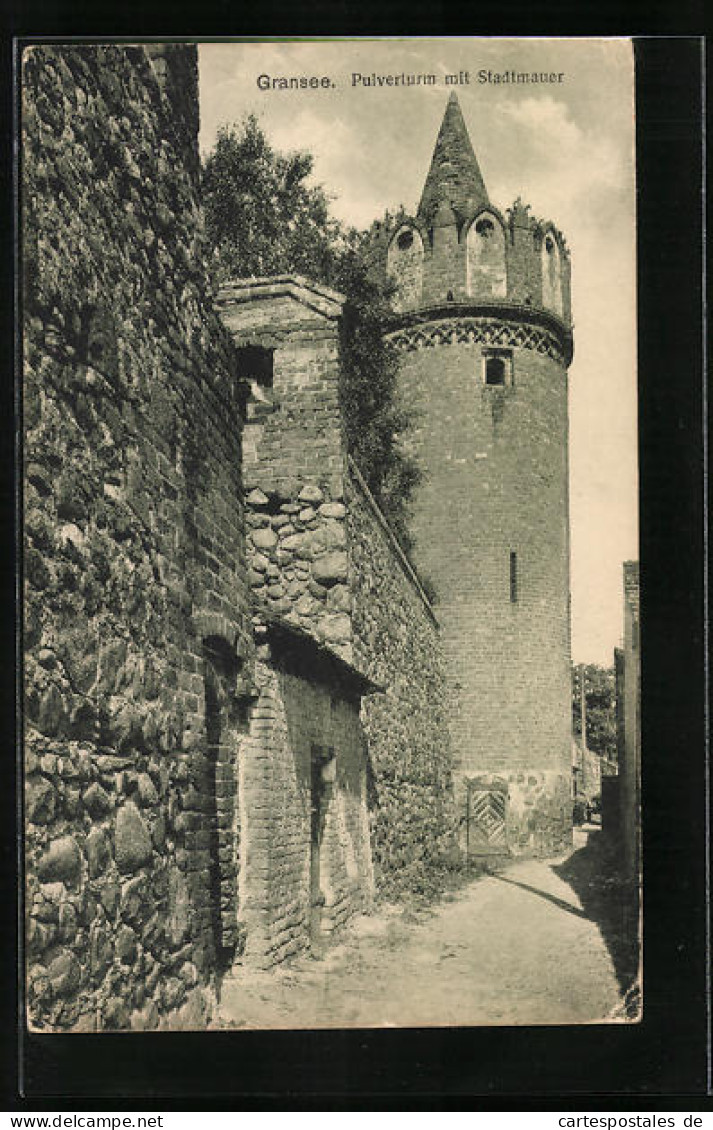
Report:
[{"label": "dark shadow on the path at the lower right edge", "polygon": [[638,972],[637,893],[624,879],[616,850],[601,832],[590,832],[586,845],[553,867],[595,922],[614,963],[621,993]]}]

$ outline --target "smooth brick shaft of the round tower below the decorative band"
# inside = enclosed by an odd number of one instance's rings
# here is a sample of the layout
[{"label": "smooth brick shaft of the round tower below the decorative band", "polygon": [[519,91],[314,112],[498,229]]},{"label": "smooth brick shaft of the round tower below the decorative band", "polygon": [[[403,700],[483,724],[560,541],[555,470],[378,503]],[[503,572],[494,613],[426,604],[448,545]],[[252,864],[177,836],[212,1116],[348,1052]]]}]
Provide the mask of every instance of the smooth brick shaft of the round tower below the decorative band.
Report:
[{"label": "smooth brick shaft of the round tower below the decorative band", "polygon": [[566,371],[514,348],[511,386],[481,374],[478,344],[402,354],[427,472],[415,562],[436,589],[459,775],[505,776],[513,845],[546,850],[571,828]]}]

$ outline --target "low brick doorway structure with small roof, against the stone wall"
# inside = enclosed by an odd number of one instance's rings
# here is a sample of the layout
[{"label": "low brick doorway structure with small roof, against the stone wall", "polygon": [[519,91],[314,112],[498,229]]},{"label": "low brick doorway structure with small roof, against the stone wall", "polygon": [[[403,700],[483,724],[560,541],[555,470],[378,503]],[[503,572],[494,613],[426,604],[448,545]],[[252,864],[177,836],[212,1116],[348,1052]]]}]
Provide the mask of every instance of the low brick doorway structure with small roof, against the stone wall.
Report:
[{"label": "low brick doorway structure with small roof, against the stone wall", "polygon": [[[241,759],[243,960],[269,967],[310,948],[312,749],[332,747],[336,779],[321,847],[322,929],[368,909],[373,875],[366,816],[366,758],[358,699],[333,683],[285,666],[268,645]],[[264,661],[269,660],[269,661]]]}]

